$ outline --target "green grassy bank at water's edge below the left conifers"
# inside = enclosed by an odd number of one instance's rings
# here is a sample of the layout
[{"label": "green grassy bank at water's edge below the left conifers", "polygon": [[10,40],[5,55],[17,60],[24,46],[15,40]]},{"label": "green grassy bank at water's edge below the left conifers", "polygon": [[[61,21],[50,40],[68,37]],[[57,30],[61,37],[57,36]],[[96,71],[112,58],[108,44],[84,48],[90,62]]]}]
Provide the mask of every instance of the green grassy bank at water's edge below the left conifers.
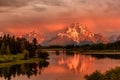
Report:
[{"label": "green grassy bank at water's edge below the left conifers", "polygon": [[0,67],[8,64],[23,64],[23,63],[32,63],[35,61],[40,61],[40,58],[28,58],[24,59],[23,54],[17,55],[0,55]]}]

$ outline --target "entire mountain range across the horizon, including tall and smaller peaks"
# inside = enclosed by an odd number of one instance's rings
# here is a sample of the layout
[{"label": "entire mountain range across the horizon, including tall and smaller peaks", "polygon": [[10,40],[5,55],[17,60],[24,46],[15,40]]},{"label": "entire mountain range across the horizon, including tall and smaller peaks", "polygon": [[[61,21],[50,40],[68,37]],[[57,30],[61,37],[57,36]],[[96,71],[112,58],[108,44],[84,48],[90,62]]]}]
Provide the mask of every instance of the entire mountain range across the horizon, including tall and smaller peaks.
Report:
[{"label": "entire mountain range across the horizon, including tall and smaller peaks", "polygon": [[[0,32],[0,37],[4,36],[4,32]],[[120,40],[120,35],[112,35],[107,38],[103,34],[97,34],[91,32],[86,26],[82,26],[79,23],[70,24],[67,28],[61,30],[56,36],[50,40],[45,40],[44,37],[35,31],[16,35],[17,37],[26,38],[29,42],[32,42],[33,38],[38,40],[38,43],[43,46],[50,45],[84,45],[84,44],[94,44],[94,43],[109,43]]]}]

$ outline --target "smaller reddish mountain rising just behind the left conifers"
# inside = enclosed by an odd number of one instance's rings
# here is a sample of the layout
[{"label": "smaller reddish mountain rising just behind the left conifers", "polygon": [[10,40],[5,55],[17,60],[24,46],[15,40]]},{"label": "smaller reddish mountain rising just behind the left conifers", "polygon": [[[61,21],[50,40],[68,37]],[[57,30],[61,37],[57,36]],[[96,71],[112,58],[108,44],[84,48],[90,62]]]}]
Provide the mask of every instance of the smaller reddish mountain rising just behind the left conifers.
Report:
[{"label": "smaller reddish mountain rising just behind the left conifers", "polygon": [[22,35],[20,37],[26,38],[29,42],[32,42],[32,40],[34,38],[37,39],[38,43],[41,43],[44,40],[44,38],[41,36],[41,34],[35,32],[35,31],[29,32],[29,33],[24,34],[24,35]]}]

